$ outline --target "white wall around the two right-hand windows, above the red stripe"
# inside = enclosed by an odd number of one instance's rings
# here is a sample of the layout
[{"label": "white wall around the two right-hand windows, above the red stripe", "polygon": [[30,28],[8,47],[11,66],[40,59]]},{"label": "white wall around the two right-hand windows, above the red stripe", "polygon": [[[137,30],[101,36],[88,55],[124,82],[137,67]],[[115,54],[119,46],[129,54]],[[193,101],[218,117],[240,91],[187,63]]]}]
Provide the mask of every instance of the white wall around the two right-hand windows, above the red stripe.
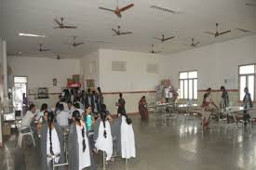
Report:
[{"label": "white wall around the two right-hand windows, above the red stripe", "polygon": [[256,35],[202,46],[164,57],[164,77],[179,85],[179,72],[198,70],[198,88],[238,89],[238,65],[256,63]]}]

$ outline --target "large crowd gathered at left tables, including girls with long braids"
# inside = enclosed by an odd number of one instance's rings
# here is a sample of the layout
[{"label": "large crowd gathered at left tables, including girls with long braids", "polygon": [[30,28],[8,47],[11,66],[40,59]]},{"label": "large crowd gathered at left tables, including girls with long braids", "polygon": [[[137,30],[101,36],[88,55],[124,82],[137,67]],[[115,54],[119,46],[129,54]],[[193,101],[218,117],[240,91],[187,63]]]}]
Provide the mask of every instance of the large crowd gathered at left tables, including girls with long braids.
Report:
[{"label": "large crowd gathered at left tables, including girls with long braids", "polygon": [[[66,146],[71,170],[96,169],[93,154],[97,154],[99,150],[106,153],[106,161],[112,160],[114,150],[115,154],[124,159],[136,156],[132,120],[126,113],[125,100],[118,101],[117,118],[114,119],[99,99],[101,94],[94,96],[88,92],[84,95],[84,100],[82,96],[79,100],[74,97],[74,101],[70,100],[73,93],[68,95],[65,92],[52,111],[45,103],[42,104],[41,110],[35,113],[35,106],[31,104],[29,111],[23,116],[22,132],[28,131],[34,120],[39,122],[37,127],[41,129],[42,169],[51,169],[52,159],[55,163],[67,161],[64,151],[64,129],[69,129]],[[97,100],[96,98],[99,100],[95,102],[95,110],[91,104]]]}]

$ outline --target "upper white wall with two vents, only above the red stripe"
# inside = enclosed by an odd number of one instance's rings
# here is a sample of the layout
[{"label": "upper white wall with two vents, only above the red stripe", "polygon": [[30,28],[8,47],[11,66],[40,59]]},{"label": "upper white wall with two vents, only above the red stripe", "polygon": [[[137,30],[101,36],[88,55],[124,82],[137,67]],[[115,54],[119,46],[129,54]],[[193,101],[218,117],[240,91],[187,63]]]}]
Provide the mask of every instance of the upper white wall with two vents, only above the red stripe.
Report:
[{"label": "upper white wall with two vents, only above the red stripe", "polygon": [[[104,92],[155,90],[158,73],[148,73],[147,63],[158,64],[162,56],[148,53],[100,49],[100,85]],[[127,62],[127,72],[112,72],[112,61]],[[160,69],[159,69],[160,70]]]}]

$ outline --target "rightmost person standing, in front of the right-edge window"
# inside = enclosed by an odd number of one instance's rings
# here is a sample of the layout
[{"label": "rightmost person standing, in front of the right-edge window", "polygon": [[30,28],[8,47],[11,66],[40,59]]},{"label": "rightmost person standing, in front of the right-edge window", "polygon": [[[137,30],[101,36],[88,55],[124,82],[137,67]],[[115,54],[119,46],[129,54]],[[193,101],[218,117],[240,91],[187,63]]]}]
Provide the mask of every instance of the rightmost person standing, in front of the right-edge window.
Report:
[{"label": "rightmost person standing, in front of the right-edge window", "polygon": [[247,126],[247,122],[249,121],[249,109],[253,108],[253,103],[249,94],[248,87],[244,89],[245,97],[243,98],[243,107],[244,107],[244,125]]}]

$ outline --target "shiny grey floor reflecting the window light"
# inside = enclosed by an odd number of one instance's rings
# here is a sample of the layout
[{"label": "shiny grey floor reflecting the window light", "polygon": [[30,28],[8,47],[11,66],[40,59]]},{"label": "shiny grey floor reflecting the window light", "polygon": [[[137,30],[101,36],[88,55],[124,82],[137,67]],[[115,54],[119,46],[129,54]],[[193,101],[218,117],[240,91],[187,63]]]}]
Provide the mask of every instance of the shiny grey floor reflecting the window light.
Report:
[{"label": "shiny grey floor reflecting the window light", "polygon": [[[137,158],[127,165],[116,159],[112,170],[255,170],[256,127],[251,131],[218,124],[202,133],[198,122],[171,122],[167,126],[141,124],[134,118]],[[38,149],[16,149],[17,137],[7,138],[0,149],[0,169],[37,170]],[[99,163],[100,159],[97,159]],[[99,165],[99,169],[101,165]]]}]

